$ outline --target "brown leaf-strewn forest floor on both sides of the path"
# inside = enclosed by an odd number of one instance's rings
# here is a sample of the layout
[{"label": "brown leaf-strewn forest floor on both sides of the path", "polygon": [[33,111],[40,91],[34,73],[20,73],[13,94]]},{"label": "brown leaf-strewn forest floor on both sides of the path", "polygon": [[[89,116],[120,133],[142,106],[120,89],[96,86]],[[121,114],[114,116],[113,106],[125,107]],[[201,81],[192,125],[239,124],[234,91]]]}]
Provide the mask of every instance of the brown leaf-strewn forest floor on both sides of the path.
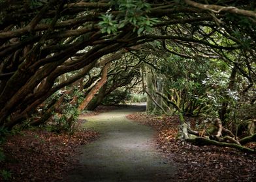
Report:
[{"label": "brown leaf-strewn forest floor on both sides of the path", "polygon": [[[84,116],[117,108],[101,107]],[[176,173],[170,181],[256,181],[256,155],[231,148],[187,144],[176,140],[178,117],[159,117],[135,111],[133,114],[127,112],[127,118],[155,129],[154,142],[158,151],[165,155],[163,163],[175,163]],[[195,122],[195,119],[190,120]],[[1,146],[6,161],[0,162],[0,170],[7,172],[5,176],[11,172],[9,181],[62,181],[65,174],[79,166],[80,146],[96,138],[101,136],[91,130],[78,131],[72,136],[42,130],[20,131],[8,136]]]}]

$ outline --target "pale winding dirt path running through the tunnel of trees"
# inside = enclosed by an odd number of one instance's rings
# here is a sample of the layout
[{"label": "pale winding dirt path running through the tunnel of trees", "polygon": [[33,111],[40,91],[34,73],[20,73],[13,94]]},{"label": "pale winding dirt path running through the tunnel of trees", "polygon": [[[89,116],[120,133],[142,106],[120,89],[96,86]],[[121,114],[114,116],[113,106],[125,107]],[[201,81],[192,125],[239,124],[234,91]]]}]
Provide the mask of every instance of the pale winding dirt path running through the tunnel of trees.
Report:
[{"label": "pale winding dirt path running through the tunnel of trees", "polygon": [[82,148],[80,166],[64,181],[174,181],[174,164],[153,146],[153,129],[125,118],[144,109],[129,106],[83,118],[84,127],[101,137]]}]

